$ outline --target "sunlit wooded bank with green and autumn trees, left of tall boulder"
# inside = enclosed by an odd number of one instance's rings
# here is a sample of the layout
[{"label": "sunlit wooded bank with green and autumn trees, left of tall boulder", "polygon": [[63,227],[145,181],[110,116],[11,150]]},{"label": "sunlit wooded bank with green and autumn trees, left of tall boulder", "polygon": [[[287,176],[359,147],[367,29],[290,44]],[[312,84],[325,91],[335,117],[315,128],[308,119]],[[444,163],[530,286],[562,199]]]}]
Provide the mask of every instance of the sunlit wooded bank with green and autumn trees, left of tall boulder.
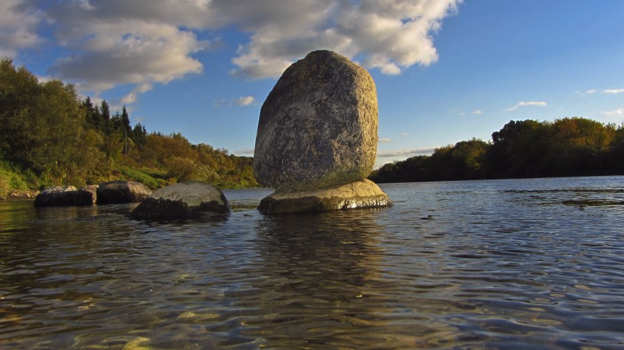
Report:
[{"label": "sunlit wooded bank with green and autumn trees, left of tall boulder", "polygon": [[72,85],[38,81],[0,61],[0,198],[10,190],[137,180],[152,189],[198,180],[222,188],[258,186],[252,157],[191,144],[179,133],[130,125],[125,106],[84,100]]}]

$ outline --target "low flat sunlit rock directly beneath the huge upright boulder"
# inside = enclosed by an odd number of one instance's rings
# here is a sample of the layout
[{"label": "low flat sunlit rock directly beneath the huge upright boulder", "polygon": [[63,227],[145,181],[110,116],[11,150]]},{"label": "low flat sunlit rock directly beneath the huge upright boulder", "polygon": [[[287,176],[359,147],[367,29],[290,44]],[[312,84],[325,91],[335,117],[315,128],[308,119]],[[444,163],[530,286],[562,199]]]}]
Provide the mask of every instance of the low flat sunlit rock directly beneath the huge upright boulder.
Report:
[{"label": "low flat sunlit rock directly beneath the huge upright boulder", "polygon": [[324,212],[328,210],[388,207],[390,198],[370,180],[345,184],[331,189],[280,193],[260,201],[263,214]]}]

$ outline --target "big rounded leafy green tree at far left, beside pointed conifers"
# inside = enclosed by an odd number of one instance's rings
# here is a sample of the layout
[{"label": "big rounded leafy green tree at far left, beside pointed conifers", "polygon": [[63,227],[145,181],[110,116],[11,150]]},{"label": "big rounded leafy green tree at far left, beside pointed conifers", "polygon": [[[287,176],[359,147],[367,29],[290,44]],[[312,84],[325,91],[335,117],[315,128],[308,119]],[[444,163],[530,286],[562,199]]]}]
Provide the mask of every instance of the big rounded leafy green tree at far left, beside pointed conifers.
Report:
[{"label": "big rounded leafy green tree at far left, beside pointed conifers", "polygon": [[92,170],[86,160],[97,159],[97,149],[77,147],[86,113],[73,86],[59,80],[39,83],[10,60],[1,61],[0,70],[1,157],[51,182],[68,183]]}]

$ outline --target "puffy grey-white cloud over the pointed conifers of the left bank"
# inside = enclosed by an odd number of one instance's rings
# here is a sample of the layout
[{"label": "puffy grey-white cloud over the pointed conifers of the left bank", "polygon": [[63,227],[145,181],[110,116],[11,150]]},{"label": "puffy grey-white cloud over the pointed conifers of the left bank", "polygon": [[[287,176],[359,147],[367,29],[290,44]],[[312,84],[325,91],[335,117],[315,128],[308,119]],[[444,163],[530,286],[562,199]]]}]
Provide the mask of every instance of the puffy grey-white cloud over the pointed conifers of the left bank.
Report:
[{"label": "puffy grey-white cloud over the pointed conifers of the left bank", "polygon": [[68,44],[75,54],[59,58],[50,67],[52,74],[76,83],[80,90],[98,92],[124,83],[168,83],[203,69],[190,54],[208,43],[197,40],[191,31],[162,23],[94,21],[75,24],[84,34],[74,33],[75,28],[60,34],[76,42]]}]

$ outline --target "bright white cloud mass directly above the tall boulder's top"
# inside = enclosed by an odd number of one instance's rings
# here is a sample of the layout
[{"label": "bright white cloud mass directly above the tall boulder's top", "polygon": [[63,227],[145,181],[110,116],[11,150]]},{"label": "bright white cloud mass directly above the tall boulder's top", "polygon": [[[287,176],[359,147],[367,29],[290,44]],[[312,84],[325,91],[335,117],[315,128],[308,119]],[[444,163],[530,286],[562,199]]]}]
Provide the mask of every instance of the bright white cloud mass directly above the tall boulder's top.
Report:
[{"label": "bright white cloud mass directly above the tall boulder's top", "polygon": [[[284,15],[257,15],[245,23],[253,34],[232,60],[238,66],[233,73],[254,79],[276,77],[314,49],[361,58],[365,67],[379,68],[383,74],[399,74],[416,63],[429,65],[438,59],[431,34],[440,29],[442,19],[455,13],[459,2],[265,2]],[[238,17],[244,18],[254,9],[240,10]]]}]

